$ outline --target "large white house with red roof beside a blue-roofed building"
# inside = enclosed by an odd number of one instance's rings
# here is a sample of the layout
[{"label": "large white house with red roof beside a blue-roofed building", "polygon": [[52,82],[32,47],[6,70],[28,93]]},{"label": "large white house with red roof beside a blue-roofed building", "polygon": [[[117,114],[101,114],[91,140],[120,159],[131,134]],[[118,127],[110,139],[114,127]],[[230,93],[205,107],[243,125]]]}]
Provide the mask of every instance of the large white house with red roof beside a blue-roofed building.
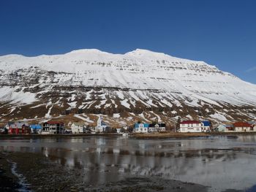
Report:
[{"label": "large white house with red roof beside a blue-roofed building", "polygon": [[180,123],[181,133],[198,133],[202,132],[202,123],[198,120],[184,120]]}]

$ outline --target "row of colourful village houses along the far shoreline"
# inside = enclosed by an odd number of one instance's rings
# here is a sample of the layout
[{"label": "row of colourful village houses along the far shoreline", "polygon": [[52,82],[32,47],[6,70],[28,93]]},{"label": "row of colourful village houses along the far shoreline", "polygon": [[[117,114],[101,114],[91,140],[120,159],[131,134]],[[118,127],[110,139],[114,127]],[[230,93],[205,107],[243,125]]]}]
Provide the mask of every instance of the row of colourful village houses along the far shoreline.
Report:
[{"label": "row of colourful village houses along the far shoreline", "polygon": [[177,123],[175,128],[167,129],[165,123],[152,122],[141,123],[138,121],[134,126],[123,126],[121,128],[112,128],[99,117],[97,126],[86,126],[83,123],[69,123],[65,125],[58,120],[48,120],[42,124],[30,124],[22,121],[8,122],[0,128],[0,134],[157,134],[157,133],[241,133],[256,132],[256,121],[235,122],[213,126],[209,120],[183,120]]}]

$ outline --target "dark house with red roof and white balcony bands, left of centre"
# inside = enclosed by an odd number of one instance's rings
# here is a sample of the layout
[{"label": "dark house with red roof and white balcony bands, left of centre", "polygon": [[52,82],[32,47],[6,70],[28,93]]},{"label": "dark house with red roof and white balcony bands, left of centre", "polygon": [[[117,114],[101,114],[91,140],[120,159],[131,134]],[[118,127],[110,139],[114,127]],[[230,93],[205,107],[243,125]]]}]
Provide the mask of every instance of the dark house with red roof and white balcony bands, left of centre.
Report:
[{"label": "dark house with red roof and white balcony bands, left of centre", "polygon": [[59,121],[48,121],[42,124],[41,134],[63,134],[64,123]]}]

